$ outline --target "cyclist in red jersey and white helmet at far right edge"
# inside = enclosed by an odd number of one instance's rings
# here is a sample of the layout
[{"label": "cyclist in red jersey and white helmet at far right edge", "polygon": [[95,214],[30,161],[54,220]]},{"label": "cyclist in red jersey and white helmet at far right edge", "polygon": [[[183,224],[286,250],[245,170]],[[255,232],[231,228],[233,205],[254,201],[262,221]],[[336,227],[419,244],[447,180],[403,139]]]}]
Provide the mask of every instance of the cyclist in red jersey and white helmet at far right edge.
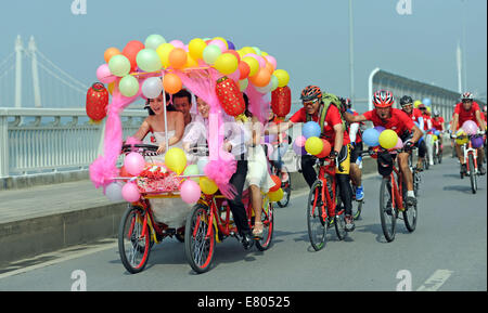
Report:
[{"label": "cyclist in red jersey and white helmet at far right edge", "polygon": [[[473,120],[486,132],[486,125],[483,121],[481,113],[479,110],[479,105],[474,101],[473,94],[471,92],[465,92],[461,95],[461,102],[455,105],[454,117],[452,119],[451,126],[451,138],[455,138],[455,132],[463,126],[466,120]],[[461,153],[461,146],[455,143],[455,153],[458,154],[459,161],[461,164],[461,172],[466,173],[466,165],[464,164],[464,155]],[[485,168],[483,168],[483,147],[478,148],[478,166],[479,173],[484,175],[486,173]]]}]

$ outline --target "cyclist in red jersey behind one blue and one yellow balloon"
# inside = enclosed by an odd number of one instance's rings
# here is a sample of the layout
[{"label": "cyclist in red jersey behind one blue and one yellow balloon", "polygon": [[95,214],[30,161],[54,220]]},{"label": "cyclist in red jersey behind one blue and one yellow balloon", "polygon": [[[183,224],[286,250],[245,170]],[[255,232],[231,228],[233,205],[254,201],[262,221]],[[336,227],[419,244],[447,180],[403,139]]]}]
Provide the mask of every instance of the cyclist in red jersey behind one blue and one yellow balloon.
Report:
[{"label": "cyclist in red jersey behind one blue and one yellow balloon", "polygon": [[380,90],[373,95],[373,104],[375,106],[373,110],[365,112],[359,116],[346,113],[345,116],[348,122],[370,120],[375,127],[382,126],[385,129],[391,129],[403,141],[403,148],[407,152],[398,154],[398,164],[407,184],[407,205],[413,206],[416,203],[416,198],[413,192],[413,178],[408,158],[412,147],[422,136],[422,131],[401,109],[393,108],[391,105],[394,103],[395,99],[391,92]]}]

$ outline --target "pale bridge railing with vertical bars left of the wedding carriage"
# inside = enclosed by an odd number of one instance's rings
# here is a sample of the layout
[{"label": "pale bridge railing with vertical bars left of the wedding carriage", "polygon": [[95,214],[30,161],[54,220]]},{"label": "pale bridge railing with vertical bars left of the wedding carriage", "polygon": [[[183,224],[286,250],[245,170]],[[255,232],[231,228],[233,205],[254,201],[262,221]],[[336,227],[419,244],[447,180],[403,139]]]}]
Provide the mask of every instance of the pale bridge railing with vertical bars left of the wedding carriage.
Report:
[{"label": "pale bridge railing with vertical bars left of the wedding carriage", "polygon": [[[146,116],[124,110],[124,138]],[[0,178],[88,169],[102,152],[103,126],[90,123],[84,108],[0,107]]]}]

